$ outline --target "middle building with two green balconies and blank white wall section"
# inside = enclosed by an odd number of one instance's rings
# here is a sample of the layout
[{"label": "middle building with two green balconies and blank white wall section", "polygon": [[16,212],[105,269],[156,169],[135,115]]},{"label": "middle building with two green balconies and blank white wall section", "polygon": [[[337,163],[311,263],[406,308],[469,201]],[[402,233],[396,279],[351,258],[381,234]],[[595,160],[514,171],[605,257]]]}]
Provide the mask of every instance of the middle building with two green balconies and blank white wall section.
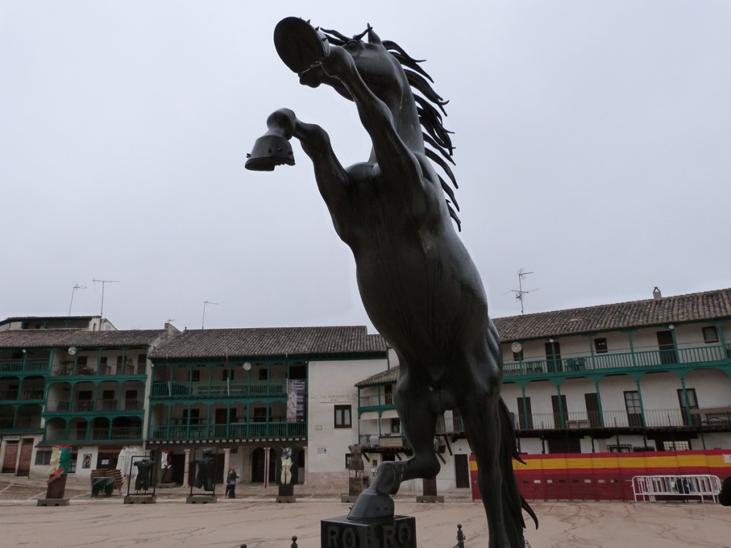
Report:
[{"label": "middle building with two green balconies and blank white wall section", "polygon": [[299,449],[299,482],[347,486],[354,379],[387,365],[366,327],[186,330],[151,354],[148,449],[165,452],[166,482],[186,482],[190,463],[214,450],[221,482],[274,482],[274,459]]}]

